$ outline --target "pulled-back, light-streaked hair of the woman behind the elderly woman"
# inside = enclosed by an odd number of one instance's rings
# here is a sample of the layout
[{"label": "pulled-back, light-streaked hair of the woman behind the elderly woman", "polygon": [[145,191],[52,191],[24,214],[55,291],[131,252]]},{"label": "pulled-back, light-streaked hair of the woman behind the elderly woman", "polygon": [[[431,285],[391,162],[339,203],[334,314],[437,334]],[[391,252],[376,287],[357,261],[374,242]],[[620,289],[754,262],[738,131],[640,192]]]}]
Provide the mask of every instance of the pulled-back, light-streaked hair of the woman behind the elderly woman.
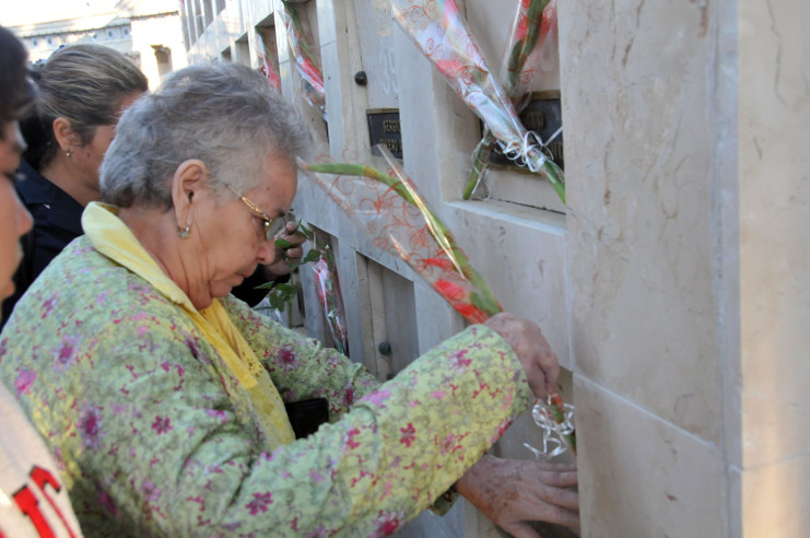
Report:
[{"label": "pulled-back, light-streaked hair of the woman behind the elderly woman", "polygon": [[81,144],[86,145],[99,126],[118,121],[124,97],[149,90],[146,77],[132,60],[93,44],[70,45],[50,55],[40,67],[37,82],[38,122],[27,122],[26,129],[36,127],[43,132],[24,132],[26,140],[35,141],[30,142],[32,148],[25,157],[37,169],[50,163],[59,150],[51,127],[56,118],[70,121]]}]

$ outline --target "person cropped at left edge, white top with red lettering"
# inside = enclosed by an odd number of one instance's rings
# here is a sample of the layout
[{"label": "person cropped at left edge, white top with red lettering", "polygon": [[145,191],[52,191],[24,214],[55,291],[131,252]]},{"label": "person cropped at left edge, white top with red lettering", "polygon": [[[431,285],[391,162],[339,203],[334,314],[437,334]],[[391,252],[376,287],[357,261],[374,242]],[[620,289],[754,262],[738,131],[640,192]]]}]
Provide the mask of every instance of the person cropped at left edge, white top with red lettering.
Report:
[{"label": "person cropped at left edge, white top with red lettering", "polygon": [[[22,250],[20,237],[33,220],[14,190],[25,142],[17,121],[34,104],[23,44],[0,26],[0,300],[14,291],[11,280]],[[9,360],[0,340],[0,360]],[[13,391],[0,385],[0,536],[81,536],[56,460],[23,413]]]}]

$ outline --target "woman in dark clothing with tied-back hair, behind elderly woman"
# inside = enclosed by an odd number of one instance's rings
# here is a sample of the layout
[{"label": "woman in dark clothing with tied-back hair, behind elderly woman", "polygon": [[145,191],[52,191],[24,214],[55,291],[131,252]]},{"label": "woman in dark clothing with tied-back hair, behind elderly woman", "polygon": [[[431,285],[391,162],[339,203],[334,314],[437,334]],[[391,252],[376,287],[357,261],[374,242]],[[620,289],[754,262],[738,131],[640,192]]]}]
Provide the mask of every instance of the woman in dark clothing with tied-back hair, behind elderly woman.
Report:
[{"label": "woman in dark clothing with tied-back hair, behind elderly woman", "polygon": [[3,319],[34,279],[82,234],[84,207],[101,198],[98,168],[121,113],[148,91],[146,78],[126,56],[101,45],[71,45],[38,71],[38,104],[22,120],[28,149],[20,198],[34,217],[24,257],[3,302]]}]

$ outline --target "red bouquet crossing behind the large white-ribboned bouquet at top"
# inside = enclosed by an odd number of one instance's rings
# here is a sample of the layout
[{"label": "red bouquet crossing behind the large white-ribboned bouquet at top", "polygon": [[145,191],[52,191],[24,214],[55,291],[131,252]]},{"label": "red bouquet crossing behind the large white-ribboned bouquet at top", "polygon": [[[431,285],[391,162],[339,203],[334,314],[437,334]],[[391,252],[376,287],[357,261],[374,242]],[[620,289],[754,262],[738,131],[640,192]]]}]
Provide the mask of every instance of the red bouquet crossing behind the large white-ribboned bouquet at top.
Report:
[{"label": "red bouquet crossing behind the large white-ribboned bouquet at top", "polygon": [[[520,0],[509,32],[509,47],[501,63],[500,79],[516,110],[528,103],[529,86],[538,68],[543,44],[556,26],[555,0]],[[472,171],[461,196],[469,200],[486,172],[488,161],[495,147],[495,137],[489,127],[472,152]],[[545,143],[549,143],[547,140]]]}]

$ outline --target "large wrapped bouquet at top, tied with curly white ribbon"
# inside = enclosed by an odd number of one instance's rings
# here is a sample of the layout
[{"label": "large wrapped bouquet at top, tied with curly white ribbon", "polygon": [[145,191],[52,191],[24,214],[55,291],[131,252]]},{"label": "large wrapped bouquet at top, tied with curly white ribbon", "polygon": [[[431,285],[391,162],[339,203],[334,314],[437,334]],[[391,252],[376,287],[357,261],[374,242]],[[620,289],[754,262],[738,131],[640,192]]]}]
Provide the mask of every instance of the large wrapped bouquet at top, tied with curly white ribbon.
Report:
[{"label": "large wrapped bouquet at top, tied with curly white ribbon", "polygon": [[459,15],[456,0],[391,0],[391,8],[422,54],[492,131],[504,155],[531,172],[541,172],[564,202],[562,169],[549,159],[539,137],[518,119],[512,100],[492,75]]}]

